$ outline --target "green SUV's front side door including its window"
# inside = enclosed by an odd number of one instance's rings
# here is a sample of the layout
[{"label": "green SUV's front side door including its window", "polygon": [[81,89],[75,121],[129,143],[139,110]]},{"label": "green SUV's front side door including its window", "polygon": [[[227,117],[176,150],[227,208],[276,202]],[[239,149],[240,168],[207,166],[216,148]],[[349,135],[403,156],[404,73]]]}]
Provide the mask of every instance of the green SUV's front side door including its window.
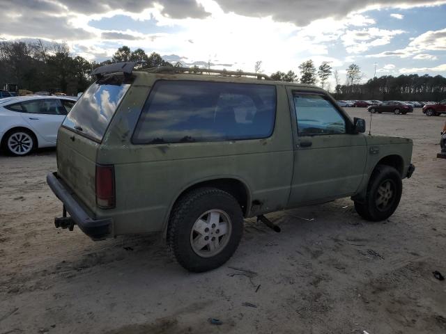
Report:
[{"label": "green SUV's front side door including its window", "polygon": [[367,143],[323,93],[288,88],[294,129],[289,207],[351,196],[364,177]]}]

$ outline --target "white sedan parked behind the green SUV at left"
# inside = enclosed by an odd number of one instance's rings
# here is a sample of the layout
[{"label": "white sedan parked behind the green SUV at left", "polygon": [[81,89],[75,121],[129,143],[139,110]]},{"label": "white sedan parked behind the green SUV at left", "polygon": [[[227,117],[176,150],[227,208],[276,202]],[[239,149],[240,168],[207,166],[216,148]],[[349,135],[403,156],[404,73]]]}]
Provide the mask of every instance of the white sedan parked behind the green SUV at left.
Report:
[{"label": "white sedan parked behind the green SUV at left", "polygon": [[61,96],[20,96],[0,100],[1,148],[26,155],[56,146],[57,131],[76,100]]}]

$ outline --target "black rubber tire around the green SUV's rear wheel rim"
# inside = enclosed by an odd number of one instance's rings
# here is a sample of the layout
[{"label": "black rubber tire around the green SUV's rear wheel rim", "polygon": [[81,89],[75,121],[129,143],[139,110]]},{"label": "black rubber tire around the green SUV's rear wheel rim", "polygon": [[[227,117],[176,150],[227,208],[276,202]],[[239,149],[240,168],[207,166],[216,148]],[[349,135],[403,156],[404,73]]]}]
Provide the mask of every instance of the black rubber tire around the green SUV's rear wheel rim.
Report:
[{"label": "black rubber tire around the green SUV's rear wheel rim", "polygon": [[[214,209],[224,212],[229,217],[231,232],[224,246],[218,250],[219,253],[203,257],[192,246],[194,233],[192,228],[203,214]],[[218,232],[218,230],[214,232]],[[174,255],[175,260],[181,266],[188,271],[201,273],[220,267],[229,260],[236,251],[242,235],[243,212],[236,198],[220,189],[200,188],[190,191],[174,205],[169,218],[167,246],[171,255]],[[215,239],[215,237],[213,238]],[[206,247],[208,246],[204,246],[204,248]],[[206,252],[203,250],[204,248],[200,250],[203,253]]]}]

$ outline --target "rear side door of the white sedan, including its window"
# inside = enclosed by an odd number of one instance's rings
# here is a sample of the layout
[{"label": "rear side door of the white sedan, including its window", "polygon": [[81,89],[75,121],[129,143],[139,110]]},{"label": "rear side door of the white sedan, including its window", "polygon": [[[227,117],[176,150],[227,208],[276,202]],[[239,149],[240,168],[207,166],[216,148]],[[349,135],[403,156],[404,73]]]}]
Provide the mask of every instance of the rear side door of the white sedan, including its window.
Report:
[{"label": "rear side door of the white sedan, including its window", "polygon": [[59,99],[39,99],[21,102],[22,117],[45,141],[56,143],[57,130],[67,111]]}]

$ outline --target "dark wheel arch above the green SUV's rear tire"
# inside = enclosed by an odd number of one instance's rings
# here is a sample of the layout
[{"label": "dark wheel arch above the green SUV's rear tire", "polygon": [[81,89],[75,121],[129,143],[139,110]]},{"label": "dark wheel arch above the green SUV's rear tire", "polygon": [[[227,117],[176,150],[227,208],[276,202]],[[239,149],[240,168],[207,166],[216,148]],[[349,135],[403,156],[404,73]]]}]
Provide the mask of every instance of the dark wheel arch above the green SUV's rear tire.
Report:
[{"label": "dark wheel arch above the green SUV's rear tire", "polygon": [[167,212],[166,218],[164,218],[164,228],[163,237],[167,236],[167,228],[169,225],[169,217],[174,208],[174,205],[180,198],[185,196],[186,193],[199,188],[211,187],[220,189],[230,193],[234,198],[236,198],[238,204],[242,208],[243,216],[247,216],[249,210],[251,209],[251,191],[247,182],[240,180],[238,177],[227,176],[227,177],[213,177],[206,180],[200,180],[185,186],[180,193],[175,197],[169,206],[169,211]]}]

